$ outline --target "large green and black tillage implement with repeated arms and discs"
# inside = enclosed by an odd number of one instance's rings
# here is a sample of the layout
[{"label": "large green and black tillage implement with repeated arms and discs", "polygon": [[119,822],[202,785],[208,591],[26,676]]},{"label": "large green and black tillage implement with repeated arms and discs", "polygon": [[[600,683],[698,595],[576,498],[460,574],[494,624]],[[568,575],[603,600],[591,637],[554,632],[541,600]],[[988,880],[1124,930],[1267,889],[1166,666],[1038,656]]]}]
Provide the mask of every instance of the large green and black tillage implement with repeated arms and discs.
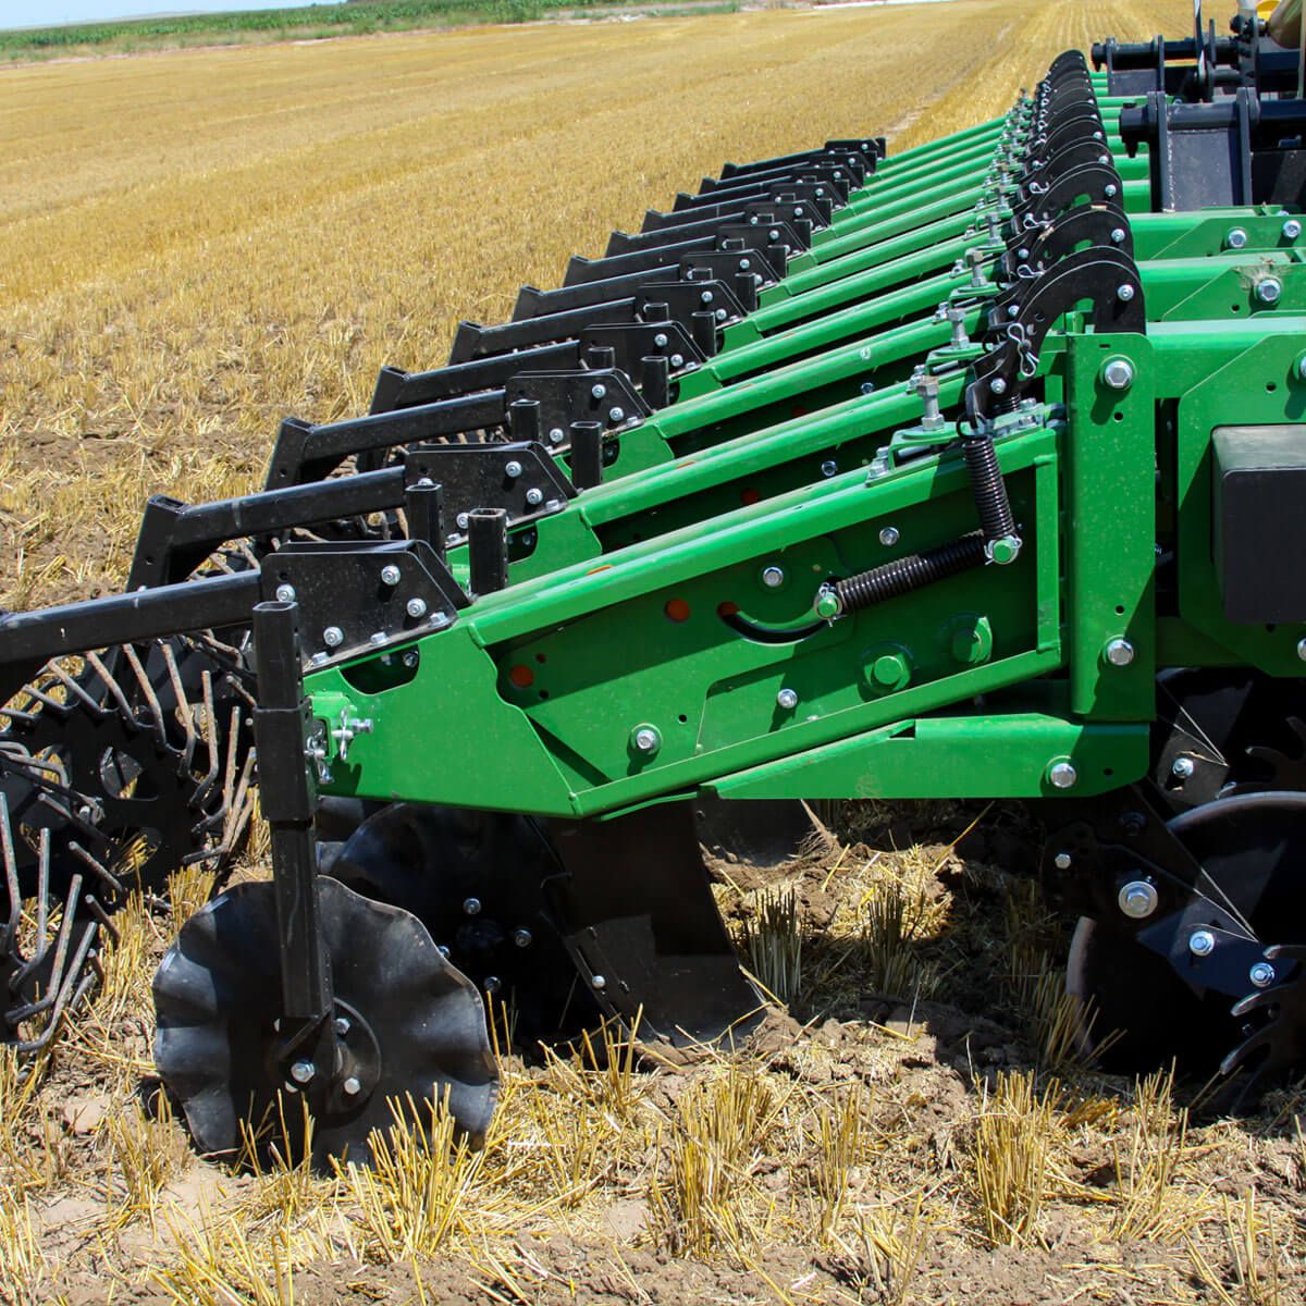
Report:
[{"label": "large green and black tillage implement with repeated arms and discs", "polygon": [[1297,35],[1199,8],[896,157],[727,163],[263,490],[153,499],[123,596],[0,616],[7,1038],[257,780],[273,878],[154,986],[205,1151],[286,1092],[323,1164],[405,1093],[483,1135],[486,994],[748,1037],[700,842],[801,799],[1038,801],[1087,1047],[1306,1067]]}]

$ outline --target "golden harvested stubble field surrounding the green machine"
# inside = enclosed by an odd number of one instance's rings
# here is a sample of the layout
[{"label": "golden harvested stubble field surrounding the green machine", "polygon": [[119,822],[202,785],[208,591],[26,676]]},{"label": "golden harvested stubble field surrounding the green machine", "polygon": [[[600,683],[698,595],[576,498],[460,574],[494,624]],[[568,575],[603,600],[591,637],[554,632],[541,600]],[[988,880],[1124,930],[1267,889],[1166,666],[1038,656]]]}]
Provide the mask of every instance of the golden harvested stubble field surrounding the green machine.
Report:
[{"label": "golden harvested stubble field surrounding the green machine", "polygon": [[[0,606],[116,589],[146,495],[256,488],[282,417],[364,411],[383,363],[438,364],[722,159],[902,149],[1188,24],[956,0],[0,71]],[[867,804],[718,865],[741,939],[798,916],[748,1051],[509,1058],[483,1151],[334,1179],[199,1161],[149,1091],[150,976],[208,889],[178,876],[42,1074],[0,1059],[0,1302],[1306,1299],[1301,1094],[1190,1119],[1076,1064],[1028,858],[1015,811]]]}]

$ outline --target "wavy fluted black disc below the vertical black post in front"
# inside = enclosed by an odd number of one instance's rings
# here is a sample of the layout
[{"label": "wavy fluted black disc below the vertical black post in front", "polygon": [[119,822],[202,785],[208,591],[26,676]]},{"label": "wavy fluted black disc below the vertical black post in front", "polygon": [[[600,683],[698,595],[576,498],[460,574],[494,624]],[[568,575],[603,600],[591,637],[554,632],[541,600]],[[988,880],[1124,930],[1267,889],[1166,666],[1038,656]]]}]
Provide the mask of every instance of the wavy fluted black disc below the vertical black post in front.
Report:
[{"label": "wavy fluted black disc below the vertical black post in front", "polygon": [[236,1152],[244,1121],[298,1158],[308,1104],[313,1161],[366,1162],[372,1131],[388,1128],[392,1102],[402,1107],[409,1096],[418,1121],[430,1124],[427,1104],[447,1100],[458,1128],[482,1139],[498,1071],[475,987],[407,912],[328,876],[317,888],[334,1015],[349,1021],[342,1043],[359,1062],[359,1091],[310,1084],[300,1093],[289,1083],[274,889],[238,884],[187,921],[154,977],[154,1060],[197,1147]]}]

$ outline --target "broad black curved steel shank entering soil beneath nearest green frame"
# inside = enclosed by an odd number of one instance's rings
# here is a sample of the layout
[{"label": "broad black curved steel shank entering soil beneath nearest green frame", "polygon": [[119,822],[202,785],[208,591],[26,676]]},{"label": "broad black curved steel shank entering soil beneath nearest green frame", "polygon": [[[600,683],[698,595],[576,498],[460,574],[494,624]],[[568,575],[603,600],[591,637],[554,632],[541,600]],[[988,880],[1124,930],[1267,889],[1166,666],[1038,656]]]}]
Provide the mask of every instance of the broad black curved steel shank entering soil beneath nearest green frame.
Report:
[{"label": "broad black curved steel shank entering soil beneath nearest green frame", "polygon": [[607,821],[554,821],[551,883],[581,976],[644,1038],[743,1040],[761,1000],[739,969],[708,882],[688,802]]}]

